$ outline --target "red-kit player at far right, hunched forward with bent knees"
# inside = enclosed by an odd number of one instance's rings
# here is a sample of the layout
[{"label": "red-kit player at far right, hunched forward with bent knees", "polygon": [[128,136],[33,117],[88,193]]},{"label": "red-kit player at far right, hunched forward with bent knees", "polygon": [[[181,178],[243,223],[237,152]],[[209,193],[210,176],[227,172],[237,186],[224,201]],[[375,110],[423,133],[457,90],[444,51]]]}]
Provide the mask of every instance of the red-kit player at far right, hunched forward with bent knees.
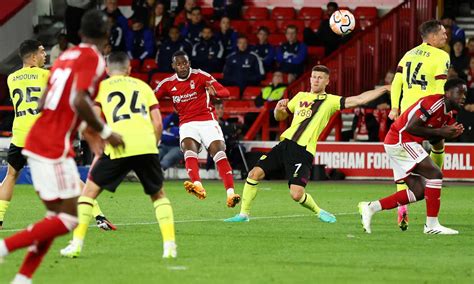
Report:
[{"label": "red-kit player at far right, hunched forward with bent knees", "polygon": [[360,202],[362,225],[371,233],[372,216],[381,210],[397,208],[419,200],[426,201],[425,234],[454,235],[458,231],[438,221],[443,174],[421,146],[423,140],[455,138],[463,132],[453,111],[466,99],[466,82],[450,79],[444,85],[445,95],[431,95],[408,108],[390,127],[384,147],[393,168],[394,180],[405,181],[408,189],[372,202]]}]

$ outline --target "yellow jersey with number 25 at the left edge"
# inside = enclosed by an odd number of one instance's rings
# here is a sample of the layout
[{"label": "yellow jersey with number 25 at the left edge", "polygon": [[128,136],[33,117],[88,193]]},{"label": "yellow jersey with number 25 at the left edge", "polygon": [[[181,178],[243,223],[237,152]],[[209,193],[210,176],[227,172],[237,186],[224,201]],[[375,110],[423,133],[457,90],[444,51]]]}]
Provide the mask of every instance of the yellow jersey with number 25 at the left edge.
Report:
[{"label": "yellow jersey with number 25 at the left edge", "polygon": [[48,82],[49,71],[23,67],[8,76],[8,89],[15,109],[12,144],[25,146],[26,135],[39,117],[38,103]]}]

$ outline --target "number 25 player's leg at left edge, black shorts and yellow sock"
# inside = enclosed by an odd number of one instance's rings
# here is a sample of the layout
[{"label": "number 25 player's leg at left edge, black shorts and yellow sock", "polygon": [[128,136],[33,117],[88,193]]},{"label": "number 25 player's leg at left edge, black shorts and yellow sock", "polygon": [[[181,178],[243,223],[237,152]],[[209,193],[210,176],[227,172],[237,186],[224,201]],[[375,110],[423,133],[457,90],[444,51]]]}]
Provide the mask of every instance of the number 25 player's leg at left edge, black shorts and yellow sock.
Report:
[{"label": "number 25 player's leg at left edge, black shorts and yellow sock", "polygon": [[20,176],[20,171],[26,165],[26,158],[21,154],[23,148],[10,144],[7,155],[7,173],[0,185],[0,230],[3,228],[5,213],[13,197],[13,188]]}]

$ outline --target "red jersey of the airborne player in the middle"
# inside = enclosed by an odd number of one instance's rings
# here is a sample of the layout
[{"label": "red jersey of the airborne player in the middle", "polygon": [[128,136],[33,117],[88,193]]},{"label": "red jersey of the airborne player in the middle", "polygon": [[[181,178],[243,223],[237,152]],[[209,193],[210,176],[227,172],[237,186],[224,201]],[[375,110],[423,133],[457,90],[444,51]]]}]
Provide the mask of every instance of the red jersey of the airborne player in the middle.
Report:
[{"label": "red jersey of the airborne player in the middle", "polygon": [[216,120],[214,105],[206,91],[206,82],[216,89],[218,97],[229,95],[229,91],[210,74],[191,69],[188,78],[180,79],[177,74],[164,79],[155,90],[156,98],[168,96],[179,115],[179,125],[190,121]]}]

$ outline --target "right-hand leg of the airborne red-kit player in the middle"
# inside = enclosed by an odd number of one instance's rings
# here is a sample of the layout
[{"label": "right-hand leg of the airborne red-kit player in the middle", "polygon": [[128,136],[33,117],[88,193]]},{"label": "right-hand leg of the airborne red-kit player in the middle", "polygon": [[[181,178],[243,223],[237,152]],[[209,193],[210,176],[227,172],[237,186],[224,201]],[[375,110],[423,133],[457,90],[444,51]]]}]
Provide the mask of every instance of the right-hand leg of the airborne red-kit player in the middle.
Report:
[{"label": "right-hand leg of the airborne red-kit player in the middle", "polygon": [[240,195],[234,192],[234,175],[225,153],[225,143],[222,140],[214,140],[209,144],[207,149],[224,183],[224,188],[227,192],[227,206],[235,207],[235,205],[240,202]]}]

